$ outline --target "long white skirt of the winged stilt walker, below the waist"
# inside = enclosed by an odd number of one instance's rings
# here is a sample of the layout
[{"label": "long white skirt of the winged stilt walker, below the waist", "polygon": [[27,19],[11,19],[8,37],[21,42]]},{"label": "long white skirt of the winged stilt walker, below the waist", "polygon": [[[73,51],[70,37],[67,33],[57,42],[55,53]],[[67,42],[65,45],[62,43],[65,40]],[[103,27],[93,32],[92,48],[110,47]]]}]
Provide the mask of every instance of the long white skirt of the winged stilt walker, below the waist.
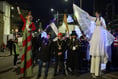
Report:
[{"label": "long white skirt of the winged stilt walker, below the waist", "polygon": [[106,51],[106,35],[102,26],[97,26],[90,41],[90,55],[105,56]]}]

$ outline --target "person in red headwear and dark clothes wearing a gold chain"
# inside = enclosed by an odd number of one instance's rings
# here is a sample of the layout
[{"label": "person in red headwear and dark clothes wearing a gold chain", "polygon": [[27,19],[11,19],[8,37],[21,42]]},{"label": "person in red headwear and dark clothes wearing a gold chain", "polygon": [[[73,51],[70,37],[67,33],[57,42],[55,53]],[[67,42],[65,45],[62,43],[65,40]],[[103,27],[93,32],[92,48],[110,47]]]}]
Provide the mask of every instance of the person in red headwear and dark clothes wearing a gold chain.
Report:
[{"label": "person in red headwear and dark clothes wearing a gold chain", "polygon": [[58,40],[53,43],[54,48],[54,56],[55,56],[55,68],[54,68],[54,76],[57,75],[58,72],[61,71],[64,75],[65,66],[64,66],[64,58],[65,58],[65,41],[62,40],[62,33],[58,33]]}]

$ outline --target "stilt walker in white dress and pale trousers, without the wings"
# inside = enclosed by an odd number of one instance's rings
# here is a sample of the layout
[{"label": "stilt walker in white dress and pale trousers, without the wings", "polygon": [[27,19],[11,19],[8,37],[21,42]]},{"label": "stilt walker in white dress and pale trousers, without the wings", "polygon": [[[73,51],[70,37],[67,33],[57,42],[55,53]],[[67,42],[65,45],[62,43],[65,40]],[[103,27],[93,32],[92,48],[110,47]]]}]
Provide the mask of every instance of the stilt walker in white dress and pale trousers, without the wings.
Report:
[{"label": "stilt walker in white dress and pale trousers, without the wings", "polygon": [[106,49],[107,31],[105,20],[99,12],[96,12],[95,18],[89,16],[89,19],[95,21],[96,23],[96,28],[90,41],[90,55],[92,56],[90,72],[92,73],[92,77],[96,78],[100,76],[101,63],[107,63],[108,61]]}]

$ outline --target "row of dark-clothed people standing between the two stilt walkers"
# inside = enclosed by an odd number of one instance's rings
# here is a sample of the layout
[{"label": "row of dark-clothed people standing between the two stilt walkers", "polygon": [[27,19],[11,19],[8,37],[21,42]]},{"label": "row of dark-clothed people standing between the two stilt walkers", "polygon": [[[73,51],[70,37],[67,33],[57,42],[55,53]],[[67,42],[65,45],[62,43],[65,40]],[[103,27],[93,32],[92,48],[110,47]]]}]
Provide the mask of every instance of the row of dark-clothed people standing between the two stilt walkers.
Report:
[{"label": "row of dark-clothed people standing between the two stilt walkers", "polygon": [[32,39],[33,59],[35,62],[38,62],[36,59],[40,59],[38,77],[41,76],[43,62],[46,63],[45,76],[48,75],[49,63],[52,59],[55,63],[54,76],[59,72],[67,75],[66,71],[74,74],[83,68],[88,68],[87,47],[89,43],[84,35],[78,39],[76,32],[72,31],[68,38],[62,33],[58,33],[56,41],[51,40],[50,37],[51,35],[47,34],[47,37]]}]

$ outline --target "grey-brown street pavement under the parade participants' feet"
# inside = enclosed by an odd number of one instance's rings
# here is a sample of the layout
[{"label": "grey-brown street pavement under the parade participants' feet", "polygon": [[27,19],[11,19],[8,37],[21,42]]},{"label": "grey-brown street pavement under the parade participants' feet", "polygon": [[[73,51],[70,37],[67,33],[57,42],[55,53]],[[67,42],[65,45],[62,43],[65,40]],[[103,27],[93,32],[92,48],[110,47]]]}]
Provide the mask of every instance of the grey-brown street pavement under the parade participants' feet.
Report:
[{"label": "grey-brown street pavement under the parade participants' feet", "polygon": [[[20,58],[17,63],[18,68],[13,67],[13,56],[9,56],[9,51],[0,52],[0,79],[21,79],[20,78]],[[76,75],[58,75],[53,77],[53,67],[50,67],[48,77],[46,79],[92,79],[89,72]],[[38,73],[38,65],[33,68],[33,77],[22,79],[36,79]],[[45,79],[44,68],[40,79]],[[102,74],[97,79],[118,79],[118,71],[112,71],[106,74]]]}]

